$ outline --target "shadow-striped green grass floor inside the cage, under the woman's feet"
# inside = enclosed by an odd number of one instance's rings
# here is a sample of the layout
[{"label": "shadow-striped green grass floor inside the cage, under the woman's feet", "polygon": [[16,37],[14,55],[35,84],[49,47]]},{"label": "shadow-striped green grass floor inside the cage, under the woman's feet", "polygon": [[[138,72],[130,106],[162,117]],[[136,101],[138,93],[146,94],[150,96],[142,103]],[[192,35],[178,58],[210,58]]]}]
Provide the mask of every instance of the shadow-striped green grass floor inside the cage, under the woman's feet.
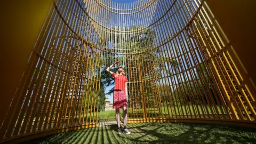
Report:
[{"label": "shadow-striped green grass floor inside the cage, under the woman's feet", "polygon": [[190,123],[128,124],[130,135],[117,134],[117,125],[102,125],[50,135],[25,143],[255,143],[256,130]]}]

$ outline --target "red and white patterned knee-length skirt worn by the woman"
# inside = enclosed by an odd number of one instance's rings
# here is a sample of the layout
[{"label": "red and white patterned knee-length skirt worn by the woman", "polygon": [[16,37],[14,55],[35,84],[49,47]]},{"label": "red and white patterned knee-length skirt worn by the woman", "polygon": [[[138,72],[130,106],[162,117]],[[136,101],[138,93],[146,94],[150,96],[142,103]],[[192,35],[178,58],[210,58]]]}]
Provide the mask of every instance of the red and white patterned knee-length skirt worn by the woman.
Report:
[{"label": "red and white patterned knee-length skirt worn by the woman", "polygon": [[113,95],[113,108],[123,108],[127,107],[126,93],[122,90],[114,90]]}]

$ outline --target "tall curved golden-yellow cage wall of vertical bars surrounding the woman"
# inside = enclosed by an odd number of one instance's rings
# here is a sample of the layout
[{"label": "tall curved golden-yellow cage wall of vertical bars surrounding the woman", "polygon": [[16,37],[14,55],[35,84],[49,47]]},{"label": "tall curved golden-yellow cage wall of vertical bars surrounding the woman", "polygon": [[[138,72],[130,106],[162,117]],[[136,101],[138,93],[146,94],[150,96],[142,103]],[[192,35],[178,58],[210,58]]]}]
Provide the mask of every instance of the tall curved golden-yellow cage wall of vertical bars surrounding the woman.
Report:
[{"label": "tall curved golden-yellow cage wall of vertical bars surrounding the woman", "polygon": [[255,126],[254,90],[243,84],[230,46],[203,0],[58,0],[0,140],[97,126],[101,72],[115,61],[129,79],[129,123]]}]

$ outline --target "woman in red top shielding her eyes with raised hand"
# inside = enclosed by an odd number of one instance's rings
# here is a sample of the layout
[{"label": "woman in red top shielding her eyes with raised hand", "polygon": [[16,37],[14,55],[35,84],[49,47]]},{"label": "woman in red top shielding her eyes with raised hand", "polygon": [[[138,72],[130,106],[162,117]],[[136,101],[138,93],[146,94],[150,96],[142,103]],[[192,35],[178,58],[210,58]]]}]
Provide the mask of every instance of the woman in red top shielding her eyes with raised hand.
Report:
[{"label": "woman in red top shielding her eyes with raised hand", "polygon": [[[124,68],[122,66],[118,67],[117,74],[110,71],[110,68],[117,65],[119,61],[115,62],[113,65],[107,68],[109,74],[115,78],[115,88],[113,95],[113,108],[116,109],[116,121],[118,125],[117,133],[130,134],[131,132],[127,129],[127,101],[128,101],[128,91],[127,91],[127,77],[124,73]],[[124,128],[121,129],[120,118],[119,118],[119,108],[123,108],[123,118],[124,118]]]}]

